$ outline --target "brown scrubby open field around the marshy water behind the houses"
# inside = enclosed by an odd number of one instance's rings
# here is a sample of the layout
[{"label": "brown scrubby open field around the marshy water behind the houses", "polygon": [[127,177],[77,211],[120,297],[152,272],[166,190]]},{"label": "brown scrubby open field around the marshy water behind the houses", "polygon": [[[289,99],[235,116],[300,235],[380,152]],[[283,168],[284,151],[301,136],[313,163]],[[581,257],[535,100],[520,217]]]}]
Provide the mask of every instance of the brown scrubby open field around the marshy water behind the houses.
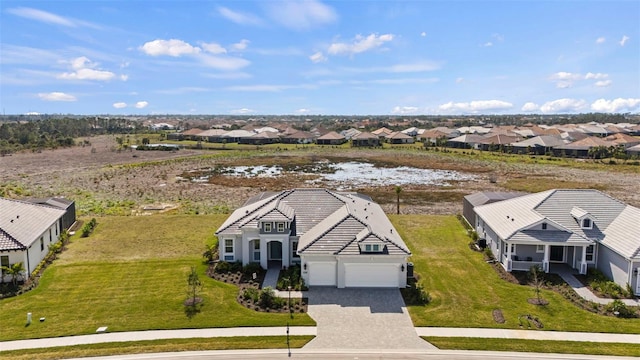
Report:
[{"label": "brown scrubby open field around the marshy water behind the houses", "polygon": [[[66,196],[76,200],[80,215],[140,214],[168,209],[184,213],[230,212],[264,190],[314,186],[316,174],[288,173],[276,178],[214,176],[206,182],[183,180],[193,170],[218,165],[288,165],[319,161],[366,161],[379,166],[412,166],[473,174],[473,181],[451,186],[412,184],[402,187],[401,212],[452,214],[462,197],[476,191],[505,191],[514,183],[539,188],[595,187],[640,206],[638,173],[582,170],[540,164],[507,164],[445,158],[425,151],[320,149],[288,151],[117,151],[113,136],[89,139],[90,145],[25,152],[0,157],[0,191],[11,197]],[[615,169],[615,167],[611,167]],[[321,183],[322,184],[322,183]],[[317,186],[317,185],[315,185]],[[371,195],[385,211],[395,213],[394,184],[355,188]],[[517,188],[516,188],[517,189]]]}]

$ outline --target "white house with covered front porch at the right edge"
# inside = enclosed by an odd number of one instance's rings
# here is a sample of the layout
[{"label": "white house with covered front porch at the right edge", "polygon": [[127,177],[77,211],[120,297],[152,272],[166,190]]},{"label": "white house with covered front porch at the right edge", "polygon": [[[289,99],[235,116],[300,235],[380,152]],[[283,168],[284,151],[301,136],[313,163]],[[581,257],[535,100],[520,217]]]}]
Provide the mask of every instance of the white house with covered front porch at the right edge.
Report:
[{"label": "white house with covered front porch at the right edge", "polygon": [[475,229],[507,271],[595,267],[640,295],[640,209],[598,190],[548,190],[474,208]]}]

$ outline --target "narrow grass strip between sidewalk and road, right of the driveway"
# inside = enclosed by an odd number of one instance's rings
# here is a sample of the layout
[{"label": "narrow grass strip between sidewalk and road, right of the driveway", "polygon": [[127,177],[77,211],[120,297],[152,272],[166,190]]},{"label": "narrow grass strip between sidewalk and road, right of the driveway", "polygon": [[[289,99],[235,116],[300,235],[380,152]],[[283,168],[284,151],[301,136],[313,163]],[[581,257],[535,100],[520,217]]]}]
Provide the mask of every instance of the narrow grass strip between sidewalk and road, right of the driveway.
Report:
[{"label": "narrow grass strip between sidewalk and road, right of the driveway", "polygon": [[425,337],[442,350],[520,351],[557,354],[640,356],[640,346],[623,343]]}]

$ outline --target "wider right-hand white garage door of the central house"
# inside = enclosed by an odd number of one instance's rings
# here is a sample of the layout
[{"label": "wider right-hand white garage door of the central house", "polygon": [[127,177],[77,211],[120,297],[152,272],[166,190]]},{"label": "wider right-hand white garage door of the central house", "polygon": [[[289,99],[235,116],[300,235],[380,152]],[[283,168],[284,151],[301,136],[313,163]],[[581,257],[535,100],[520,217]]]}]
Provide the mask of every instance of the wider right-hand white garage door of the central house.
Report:
[{"label": "wider right-hand white garage door of the central house", "polygon": [[399,287],[397,264],[344,264],[346,287]]}]

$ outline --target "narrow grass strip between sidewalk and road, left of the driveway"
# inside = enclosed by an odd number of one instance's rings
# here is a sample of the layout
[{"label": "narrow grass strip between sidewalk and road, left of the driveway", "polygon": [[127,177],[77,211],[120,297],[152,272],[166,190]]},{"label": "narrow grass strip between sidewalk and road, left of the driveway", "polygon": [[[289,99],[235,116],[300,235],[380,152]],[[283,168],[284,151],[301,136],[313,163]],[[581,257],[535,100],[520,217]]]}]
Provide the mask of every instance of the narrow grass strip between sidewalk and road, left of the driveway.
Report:
[{"label": "narrow grass strip between sidewalk and road, left of the driveway", "polygon": [[[311,339],[313,339],[313,336],[291,336],[289,344],[292,349],[301,348]],[[119,354],[230,349],[282,349],[284,356],[287,353],[286,341],[287,338],[285,336],[170,339],[4,351],[0,352],[0,357],[13,360],[48,360]]]}]

